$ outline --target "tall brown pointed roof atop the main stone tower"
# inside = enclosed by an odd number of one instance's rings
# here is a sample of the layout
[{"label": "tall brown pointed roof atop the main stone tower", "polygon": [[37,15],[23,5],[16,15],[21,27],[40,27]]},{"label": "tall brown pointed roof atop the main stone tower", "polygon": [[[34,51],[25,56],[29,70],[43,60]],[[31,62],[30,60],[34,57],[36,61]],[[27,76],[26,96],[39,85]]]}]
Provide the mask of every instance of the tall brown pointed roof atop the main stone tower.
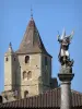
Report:
[{"label": "tall brown pointed roof atop the main stone tower", "polygon": [[50,56],[44,47],[33,17],[31,17],[28,22],[23,40],[16,53],[46,53]]}]

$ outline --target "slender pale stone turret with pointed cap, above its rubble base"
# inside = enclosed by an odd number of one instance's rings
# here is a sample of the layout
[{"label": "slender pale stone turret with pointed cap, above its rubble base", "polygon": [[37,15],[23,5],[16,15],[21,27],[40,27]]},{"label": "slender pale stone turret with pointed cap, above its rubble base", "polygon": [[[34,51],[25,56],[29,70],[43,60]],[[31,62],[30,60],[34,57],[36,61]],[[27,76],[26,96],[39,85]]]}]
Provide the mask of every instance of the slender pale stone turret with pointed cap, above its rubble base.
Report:
[{"label": "slender pale stone turret with pointed cap, above its rubble base", "polygon": [[4,92],[15,88],[15,57],[10,43],[9,49],[4,55]]}]

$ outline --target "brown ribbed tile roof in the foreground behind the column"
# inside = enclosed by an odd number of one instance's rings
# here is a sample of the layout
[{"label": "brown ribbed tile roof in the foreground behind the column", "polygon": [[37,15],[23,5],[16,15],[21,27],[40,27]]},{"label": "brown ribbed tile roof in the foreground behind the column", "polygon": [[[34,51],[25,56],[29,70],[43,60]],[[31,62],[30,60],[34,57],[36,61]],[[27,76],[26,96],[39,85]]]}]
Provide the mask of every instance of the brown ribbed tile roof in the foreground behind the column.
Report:
[{"label": "brown ribbed tile roof in the foreground behind the column", "polygon": [[[72,109],[82,109],[82,93],[71,90],[72,94]],[[48,90],[38,96],[20,99],[16,101],[1,104],[0,108],[14,107],[14,108],[55,108],[60,107],[60,88]]]}]

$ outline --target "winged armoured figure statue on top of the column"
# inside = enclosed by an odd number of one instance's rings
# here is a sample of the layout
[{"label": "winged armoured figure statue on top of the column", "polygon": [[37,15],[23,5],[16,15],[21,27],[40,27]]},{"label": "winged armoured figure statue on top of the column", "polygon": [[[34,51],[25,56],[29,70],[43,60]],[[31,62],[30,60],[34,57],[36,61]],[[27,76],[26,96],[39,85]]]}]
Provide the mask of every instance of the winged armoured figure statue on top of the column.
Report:
[{"label": "winged armoured figure statue on top of the column", "polygon": [[69,53],[69,45],[71,44],[71,39],[73,36],[73,31],[69,36],[66,36],[66,31],[62,32],[62,35],[57,36],[58,41],[60,44],[60,51],[58,55],[59,61],[61,63],[62,68],[71,68],[70,72],[72,72],[72,65],[73,65],[73,60],[70,60],[70,53]]}]

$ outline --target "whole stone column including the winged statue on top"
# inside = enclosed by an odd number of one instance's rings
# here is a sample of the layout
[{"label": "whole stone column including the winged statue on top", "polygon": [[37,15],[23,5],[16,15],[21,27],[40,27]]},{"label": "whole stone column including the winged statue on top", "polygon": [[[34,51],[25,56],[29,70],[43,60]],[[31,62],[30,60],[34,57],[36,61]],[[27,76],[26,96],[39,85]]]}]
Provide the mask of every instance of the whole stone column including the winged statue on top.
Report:
[{"label": "whole stone column including the winged statue on top", "polygon": [[69,45],[71,43],[73,32],[67,36],[66,32],[62,33],[61,38],[58,35],[58,41],[60,44],[60,51],[58,60],[61,64],[58,77],[61,81],[61,104],[60,109],[71,109],[71,81],[74,76],[72,73],[73,59],[70,60]]}]

